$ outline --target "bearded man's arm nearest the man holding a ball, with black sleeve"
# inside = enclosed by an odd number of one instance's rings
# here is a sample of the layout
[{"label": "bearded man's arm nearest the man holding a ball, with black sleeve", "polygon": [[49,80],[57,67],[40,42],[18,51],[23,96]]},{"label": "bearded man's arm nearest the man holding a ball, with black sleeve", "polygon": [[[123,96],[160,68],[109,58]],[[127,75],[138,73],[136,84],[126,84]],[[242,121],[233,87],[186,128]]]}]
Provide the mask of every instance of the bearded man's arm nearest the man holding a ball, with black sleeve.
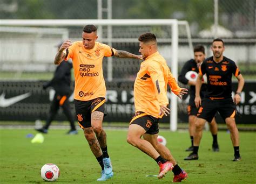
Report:
[{"label": "bearded man's arm nearest the man holding a ball, with black sleeve", "polygon": [[199,73],[196,81],[196,97],[194,98],[194,103],[196,104],[196,107],[199,108],[201,105],[201,97],[200,97],[200,90],[202,86],[202,78],[205,73],[205,63],[203,62],[199,66]]}]

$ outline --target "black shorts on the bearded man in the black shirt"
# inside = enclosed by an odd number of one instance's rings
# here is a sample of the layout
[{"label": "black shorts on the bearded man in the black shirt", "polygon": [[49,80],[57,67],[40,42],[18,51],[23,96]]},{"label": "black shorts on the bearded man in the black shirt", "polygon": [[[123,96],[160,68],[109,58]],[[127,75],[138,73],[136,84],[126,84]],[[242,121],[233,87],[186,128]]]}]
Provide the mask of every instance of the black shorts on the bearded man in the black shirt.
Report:
[{"label": "black shorts on the bearded man in the black shirt", "polygon": [[235,117],[235,104],[232,98],[223,100],[210,100],[204,98],[201,107],[198,110],[197,117],[206,119],[207,122],[212,122],[216,112],[224,119],[228,117]]}]

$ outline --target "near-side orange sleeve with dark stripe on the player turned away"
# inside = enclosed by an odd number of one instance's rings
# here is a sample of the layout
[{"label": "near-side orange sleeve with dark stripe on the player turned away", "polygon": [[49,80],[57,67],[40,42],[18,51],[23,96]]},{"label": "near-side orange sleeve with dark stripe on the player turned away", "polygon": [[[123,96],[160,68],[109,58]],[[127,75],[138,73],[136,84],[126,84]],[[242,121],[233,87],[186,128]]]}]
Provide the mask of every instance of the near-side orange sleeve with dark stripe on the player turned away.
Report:
[{"label": "near-side orange sleeve with dark stripe on the player turned away", "polygon": [[165,90],[165,81],[164,81],[164,73],[163,69],[159,65],[159,63],[151,63],[149,66],[149,73],[153,82],[153,86],[157,96],[157,100],[160,105],[169,104],[167,98],[167,92]]}]

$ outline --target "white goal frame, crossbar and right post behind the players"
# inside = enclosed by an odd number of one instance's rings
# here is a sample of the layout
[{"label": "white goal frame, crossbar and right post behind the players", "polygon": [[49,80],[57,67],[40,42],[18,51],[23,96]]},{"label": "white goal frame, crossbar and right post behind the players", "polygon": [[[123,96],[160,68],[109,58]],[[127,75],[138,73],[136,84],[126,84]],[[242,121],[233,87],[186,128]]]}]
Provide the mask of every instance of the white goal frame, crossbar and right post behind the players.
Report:
[{"label": "white goal frame, crossbar and right post behind the players", "polygon": [[[112,32],[112,27],[116,26],[123,26],[126,27],[126,29],[123,29],[124,31],[130,29],[132,26],[145,26],[145,27],[151,27],[151,30],[158,29],[157,26],[168,26],[169,29],[166,32],[161,31],[161,35],[163,35],[163,38],[159,38],[157,36],[158,43],[164,43],[165,46],[163,48],[170,48],[169,51],[171,56],[167,60],[167,65],[171,67],[171,72],[173,76],[178,79],[178,39],[179,39],[179,25],[185,25],[185,30],[187,32],[187,38],[190,50],[192,47],[191,42],[191,36],[190,36],[190,30],[188,23],[186,21],[179,21],[177,19],[0,19],[0,29],[4,26],[28,26],[28,27],[52,27],[52,29],[56,29],[56,27],[78,27],[78,26],[84,26],[87,24],[93,24],[96,26],[105,26],[107,29],[111,27],[111,33],[107,31],[105,34],[104,31],[98,33],[101,38],[99,38],[100,41],[111,44],[113,42],[124,42],[129,40],[133,43],[138,43],[138,37],[137,38],[116,38],[115,33]],[[102,29],[101,29],[102,30]],[[113,29],[114,30],[114,29]],[[146,29],[141,29],[140,34],[144,33]],[[159,29],[158,29],[159,30]],[[170,33],[170,35],[169,35]],[[103,37],[105,34],[105,37]],[[130,34],[130,33],[129,33]],[[132,34],[132,33],[131,33]],[[170,38],[171,37],[171,38]],[[168,46],[169,44],[169,46]],[[171,44],[171,45],[170,45]],[[167,45],[167,46],[166,46]],[[118,49],[118,48],[117,48]],[[170,51],[171,50],[171,51]],[[113,68],[112,60],[110,60],[107,64],[107,80],[112,81],[112,68]],[[176,131],[177,130],[177,96],[174,94],[171,94],[171,116],[170,116],[170,130]]]}]

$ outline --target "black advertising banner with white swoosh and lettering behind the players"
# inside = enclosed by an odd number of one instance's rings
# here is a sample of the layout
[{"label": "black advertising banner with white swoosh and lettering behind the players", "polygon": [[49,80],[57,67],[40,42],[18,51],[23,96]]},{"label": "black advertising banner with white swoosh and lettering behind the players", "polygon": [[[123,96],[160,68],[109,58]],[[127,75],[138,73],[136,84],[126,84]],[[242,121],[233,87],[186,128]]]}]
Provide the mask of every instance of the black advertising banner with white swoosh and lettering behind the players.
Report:
[{"label": "black advertising banner with white swoosh and lettering behind the players", "polygon": [[[50,102],[55,94],[53,89],[43,90],[46,81],[0,81],[0,121],[35,121],[45,120],[50,110]],[[241,93],[241,103],[237,105],[237,123],[256,123],[256,82],[246,81]],[[107,116],[104,122],[130,122],[134,115],[133,82],[106,82]],[[237,83],[232,84],[233,94]],[[170,90],[169,90],[170,91]],[[72,94],[72,92],[71,92]],[[171,94],[167,94],[170,96]],[[189,96],[178,100],[178,122],[187,122],[187,102]],[[75,117],[73,94],[69,97],[71,111]],[[171,107],[175,108],[175,107]],[[59,110],[57,121],[66,117]],[[160,122],[170,122],[170,117],[164,117]],[[217,122],[224,123],[217,115]]]}]

